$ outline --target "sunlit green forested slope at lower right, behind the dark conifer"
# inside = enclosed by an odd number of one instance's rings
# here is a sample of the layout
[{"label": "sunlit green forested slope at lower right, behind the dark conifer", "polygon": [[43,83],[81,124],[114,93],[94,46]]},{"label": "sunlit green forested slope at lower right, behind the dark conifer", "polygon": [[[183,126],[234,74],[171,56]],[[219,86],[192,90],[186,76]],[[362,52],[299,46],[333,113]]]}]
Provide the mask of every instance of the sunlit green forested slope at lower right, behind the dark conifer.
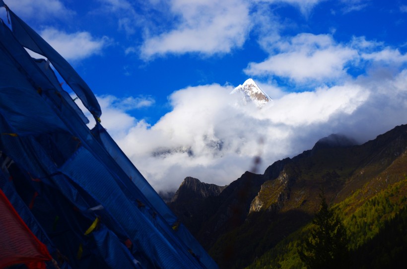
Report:
[{"label": "sunlit green forested slope at lower right, behind the dark conifer", "polygon": [[[363,199],[368,193],[368,188],[360,189],[330,209],[347,232],[349,267],[402,268],[407,263],[407,176]],[[299,251],[313,226],[307,224],[290,234],[248,269],[306,268]]]}]

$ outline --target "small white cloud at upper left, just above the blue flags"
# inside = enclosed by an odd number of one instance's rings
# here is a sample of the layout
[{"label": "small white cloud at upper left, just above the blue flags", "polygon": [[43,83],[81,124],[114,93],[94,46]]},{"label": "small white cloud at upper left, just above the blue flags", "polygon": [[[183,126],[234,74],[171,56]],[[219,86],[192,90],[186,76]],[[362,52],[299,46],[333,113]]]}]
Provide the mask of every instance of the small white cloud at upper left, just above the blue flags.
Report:
[{"label": "small white cloud at upper left, just above the blue flags", "polygon": [[40,35],[68,60],[80,60],[93,54],[101,54],[110,44],[107,37],[96,39],[88,32],[66,33],[52,27],[45,28]]}]

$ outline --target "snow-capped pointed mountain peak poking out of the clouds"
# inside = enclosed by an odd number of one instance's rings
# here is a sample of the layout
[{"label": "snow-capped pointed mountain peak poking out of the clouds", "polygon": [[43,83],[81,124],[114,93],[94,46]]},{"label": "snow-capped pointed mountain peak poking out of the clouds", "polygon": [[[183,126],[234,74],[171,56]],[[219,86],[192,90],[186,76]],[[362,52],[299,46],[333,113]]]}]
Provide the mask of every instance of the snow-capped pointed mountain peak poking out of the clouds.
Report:
[{"label": "snow-capped pointed mountain peak poking out of the clouds", "polygon": [[237,86],[230,94],[243,94],[244,103],[254,102],[257,107],[261,108],[272,99],[257,85],[257,83],[249,78],[243,85]]}]

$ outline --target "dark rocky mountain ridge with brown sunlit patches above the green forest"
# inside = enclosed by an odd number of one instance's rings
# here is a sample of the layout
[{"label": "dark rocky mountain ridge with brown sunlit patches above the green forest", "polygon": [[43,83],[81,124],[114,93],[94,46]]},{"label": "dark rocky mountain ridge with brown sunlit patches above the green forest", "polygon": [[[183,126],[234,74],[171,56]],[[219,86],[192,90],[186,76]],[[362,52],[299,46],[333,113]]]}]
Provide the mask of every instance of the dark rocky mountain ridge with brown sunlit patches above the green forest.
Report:
[{"label": "dark rocky mountain ridge with brown sunlit patches above the green forest", "polygon": [[374,193],[400,178],[381,173],[406,154],[407,125],[362,145],[337,135],[331,141],[321,139],[311,150],[276,161],[264,174],[245,172],[218,196],[200,202],[205,217],[203,222],[189,220],[198,225],[193,234],[221,268],[247,266],[308,223],[318,209],[321,188],[328,202],[339,203],[364,186]]}]

